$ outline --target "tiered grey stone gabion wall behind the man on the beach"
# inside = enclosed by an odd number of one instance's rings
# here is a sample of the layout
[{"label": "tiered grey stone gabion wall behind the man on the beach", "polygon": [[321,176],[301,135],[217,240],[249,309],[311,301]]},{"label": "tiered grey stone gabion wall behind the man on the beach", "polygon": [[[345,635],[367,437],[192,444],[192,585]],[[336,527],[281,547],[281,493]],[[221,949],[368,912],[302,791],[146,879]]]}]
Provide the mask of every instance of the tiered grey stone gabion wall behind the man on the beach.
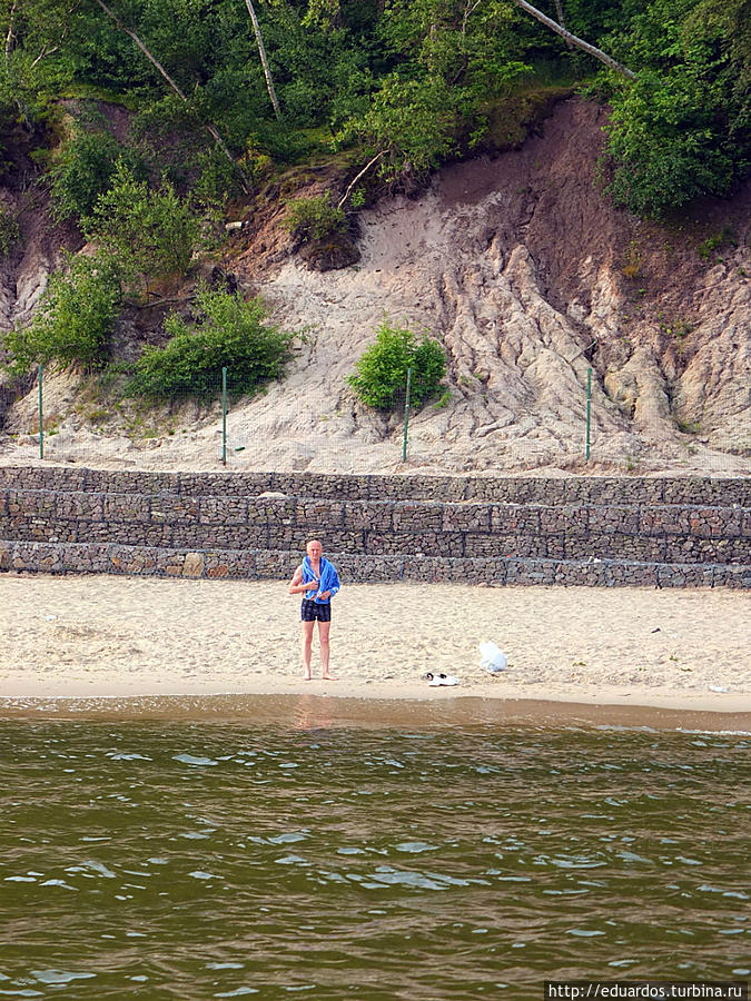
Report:
[{"label": "tiered grey stone gabion wall behind the man on the beach", "polygon": [[0,569],[748,587],[750,485],[0,469]]}]

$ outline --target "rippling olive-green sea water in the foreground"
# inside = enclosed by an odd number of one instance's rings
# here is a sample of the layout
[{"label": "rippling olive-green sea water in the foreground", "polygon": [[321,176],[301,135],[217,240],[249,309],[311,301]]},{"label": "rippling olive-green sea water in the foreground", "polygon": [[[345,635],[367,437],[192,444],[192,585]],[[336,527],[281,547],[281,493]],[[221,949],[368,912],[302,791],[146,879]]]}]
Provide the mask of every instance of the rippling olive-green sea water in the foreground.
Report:
[{"label": "rippling olive-green sea water in the foreground", "polygon": [[0,722],[0,998],[749,977],[749,737]]}]

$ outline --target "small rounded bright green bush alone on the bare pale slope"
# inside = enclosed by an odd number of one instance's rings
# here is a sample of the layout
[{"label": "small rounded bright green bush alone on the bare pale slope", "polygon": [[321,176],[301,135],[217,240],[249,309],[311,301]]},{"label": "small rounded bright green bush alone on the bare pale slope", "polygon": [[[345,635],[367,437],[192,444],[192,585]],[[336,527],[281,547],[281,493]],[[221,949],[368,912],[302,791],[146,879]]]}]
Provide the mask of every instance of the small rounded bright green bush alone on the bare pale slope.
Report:
[{"label": "small rounded bright green bush alone on the bare pale slope", "polygon": [[384,323],[376,343],[360,356],[355,368],[356,375],[347,381],[359,399],[369,407],[393,410],[404,403],[408,368],[411,403],[419,405],[436,395],[446,374],[446,355],[437,340],[423,337],[418,341],[412,330]]}]

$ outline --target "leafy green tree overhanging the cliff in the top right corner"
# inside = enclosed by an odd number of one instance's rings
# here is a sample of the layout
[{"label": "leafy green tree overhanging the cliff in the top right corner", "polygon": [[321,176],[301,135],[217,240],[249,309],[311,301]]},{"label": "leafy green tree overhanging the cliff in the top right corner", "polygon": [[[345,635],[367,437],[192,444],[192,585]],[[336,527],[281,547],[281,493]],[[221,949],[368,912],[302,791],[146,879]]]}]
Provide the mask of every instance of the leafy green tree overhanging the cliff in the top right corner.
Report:
[{"label": "leafy green tree overhanging the cliff in the top right corner", "polygon": [[609,190],[617,204],[660,216],[698,196],[727,195],[744,176],[751,116],[738,79],[749,56],[737,48],[729,13],[741,6],[751,4],[731,0],[719,16],[715,0],[652,0],[630,21],[620,43],[644,68],[611,98]]}]

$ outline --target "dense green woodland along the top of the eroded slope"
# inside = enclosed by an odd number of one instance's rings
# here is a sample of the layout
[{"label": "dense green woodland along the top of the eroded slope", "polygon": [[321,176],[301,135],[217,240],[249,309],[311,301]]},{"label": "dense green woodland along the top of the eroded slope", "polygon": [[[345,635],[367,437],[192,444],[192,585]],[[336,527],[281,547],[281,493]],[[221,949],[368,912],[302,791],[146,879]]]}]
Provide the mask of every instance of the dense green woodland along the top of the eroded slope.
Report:
[{"label": "dense green woodland along the top of the eroded slope", "polygon": [[342,146],[360,165],[377,158],[392,180],[419,178],[481,142],[512,91],[596,78],[613,107],[616,200],[654,214],[732,189],[749,165],[751,0],[541,8],[635,81],[512,0],[257,0],[277,115],[243,2],[7,0],[0,115],[40,129],[61,95],[132,109],[127,141],[79,128],[51,167],[57,211],[80,218],[123,158],[131,170],[146,163],[157,189],[169,181],[216,199],[256,184],[259,165]]}]

